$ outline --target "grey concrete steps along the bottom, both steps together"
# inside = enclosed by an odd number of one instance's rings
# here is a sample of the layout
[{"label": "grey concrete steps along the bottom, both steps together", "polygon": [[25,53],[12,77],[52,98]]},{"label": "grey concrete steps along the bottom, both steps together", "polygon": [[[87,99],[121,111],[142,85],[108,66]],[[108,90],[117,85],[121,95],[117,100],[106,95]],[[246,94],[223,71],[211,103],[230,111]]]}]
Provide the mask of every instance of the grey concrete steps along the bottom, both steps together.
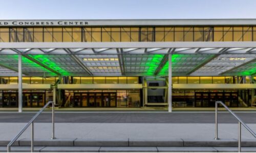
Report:
[{"label": "grey concrete steps along the bottom, both steps together", "polygon": [[[0,140],[0,151],[7,151],[9,141]],[[127,139],[35,139],[37,152],[237,152],[238,140],[202,140],[171,138]],[[30,151],[30,139],[20,139],[11,151]],[[242,151],[256,152],[256,140],[243,139]]]}]

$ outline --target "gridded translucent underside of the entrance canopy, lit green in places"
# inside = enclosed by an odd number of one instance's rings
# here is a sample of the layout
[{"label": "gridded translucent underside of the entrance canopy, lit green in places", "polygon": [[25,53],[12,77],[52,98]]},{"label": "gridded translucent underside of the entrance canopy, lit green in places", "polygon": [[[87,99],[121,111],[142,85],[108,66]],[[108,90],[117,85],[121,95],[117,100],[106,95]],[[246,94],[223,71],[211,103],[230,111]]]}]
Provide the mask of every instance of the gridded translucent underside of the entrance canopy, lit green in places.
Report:
[{"label": "gridded translucent underside of the entrance canopy, lit green in places", "polygon": [[[137,49],[126,48],[122,52]],[[96,52],[106,50],[101,48]],[[28,54],[22,60],[23,73],[28,76],[166,76],[169,65],[166,57],[167,54]],[[172,73],[173,76],[253,75],[255,59],[256,54],[174,54]],[[0,56],[0,76],[17,76],[17,71],[18,55]]]}]

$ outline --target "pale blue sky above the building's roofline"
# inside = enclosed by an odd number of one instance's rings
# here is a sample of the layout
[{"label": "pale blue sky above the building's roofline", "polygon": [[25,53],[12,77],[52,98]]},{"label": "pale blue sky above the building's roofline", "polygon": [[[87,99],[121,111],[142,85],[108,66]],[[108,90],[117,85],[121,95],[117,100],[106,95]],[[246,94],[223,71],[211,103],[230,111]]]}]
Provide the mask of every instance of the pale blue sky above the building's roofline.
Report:
[{"label": "pale blue sky above the building's roofline", "polygon": [[256,18],[255,0],[0,0],[0,19]]}]

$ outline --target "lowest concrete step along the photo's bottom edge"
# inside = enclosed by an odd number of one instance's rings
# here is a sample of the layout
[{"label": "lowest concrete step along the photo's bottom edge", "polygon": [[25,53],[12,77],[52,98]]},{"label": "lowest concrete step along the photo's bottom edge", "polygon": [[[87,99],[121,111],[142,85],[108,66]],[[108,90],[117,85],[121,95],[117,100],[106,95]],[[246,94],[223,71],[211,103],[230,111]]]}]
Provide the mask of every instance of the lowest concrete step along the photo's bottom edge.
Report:
[{"label": "lowest concrete step along the photo's bottom edge", "polygon": [[[35,152],[237,152],[238,147],[81,147],[47,146],[35,147]],[[13,146],[12,152],[30,152],[29,146]],[[256,152],[256,147],[242,147],[243,152]],[[6,152],[1,146],[0,152]]]}]

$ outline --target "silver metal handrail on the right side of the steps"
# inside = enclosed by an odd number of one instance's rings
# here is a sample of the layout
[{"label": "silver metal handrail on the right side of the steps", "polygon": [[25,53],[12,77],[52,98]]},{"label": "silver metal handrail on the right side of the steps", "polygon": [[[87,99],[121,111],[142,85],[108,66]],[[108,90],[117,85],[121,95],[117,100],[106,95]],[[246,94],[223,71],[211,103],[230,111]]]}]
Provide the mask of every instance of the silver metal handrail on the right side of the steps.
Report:
[{"label": "silver metal handrail on the right side of the steps", "polygon": [[234,114],[222,101],[215,102],[215,140],[218,140],[218,104],[221,104],[229,113],[231,113],[238,120],[238,152],[241,152],[241,124],[248,130],[255,138],[256,134],[247,126],[241,118]]}]

